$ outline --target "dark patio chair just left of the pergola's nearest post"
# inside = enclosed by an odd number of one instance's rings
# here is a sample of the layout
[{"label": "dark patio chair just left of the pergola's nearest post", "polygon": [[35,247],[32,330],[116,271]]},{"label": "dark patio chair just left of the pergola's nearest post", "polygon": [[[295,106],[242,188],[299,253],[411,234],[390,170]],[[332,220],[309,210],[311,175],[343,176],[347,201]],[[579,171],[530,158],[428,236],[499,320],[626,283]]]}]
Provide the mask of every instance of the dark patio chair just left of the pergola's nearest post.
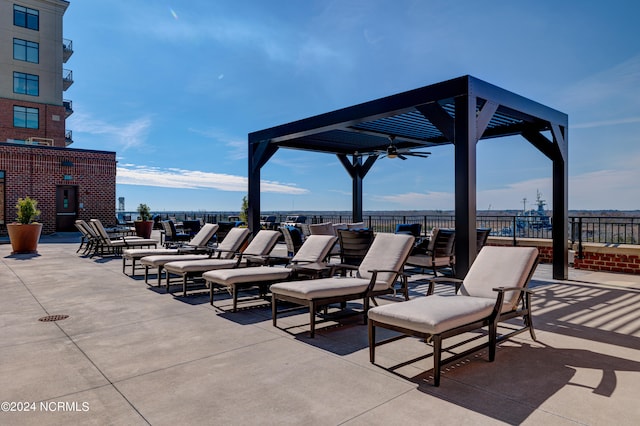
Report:
[{"label": "dark patio chair just left of the pergola's nearest post", "polygon": [[452,274],[455,274],[455,242],[456,231],[453,229],[434,228],[424,252],[420,252],[421,245],[409,256],[407,260],[408,266],[417,266],[423,270],[430,268],[433,275],[438,276],[438,270],[443,268],[451,268]]}]

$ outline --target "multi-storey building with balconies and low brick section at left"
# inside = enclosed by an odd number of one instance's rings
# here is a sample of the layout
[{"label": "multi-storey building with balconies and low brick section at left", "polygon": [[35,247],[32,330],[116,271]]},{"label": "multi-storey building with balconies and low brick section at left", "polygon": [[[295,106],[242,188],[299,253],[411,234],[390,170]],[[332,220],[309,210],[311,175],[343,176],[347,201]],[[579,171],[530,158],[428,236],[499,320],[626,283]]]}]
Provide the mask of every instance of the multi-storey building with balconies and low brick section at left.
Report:
[{"label": "multi-storey building with balconies and low brick section at left", "polygon": [[0,233],[25,196],[38,200],[44,233],[74,231],[77,218],[114,221],[115,153],[69,148],[68,7],[64,0],[0,0]]}]

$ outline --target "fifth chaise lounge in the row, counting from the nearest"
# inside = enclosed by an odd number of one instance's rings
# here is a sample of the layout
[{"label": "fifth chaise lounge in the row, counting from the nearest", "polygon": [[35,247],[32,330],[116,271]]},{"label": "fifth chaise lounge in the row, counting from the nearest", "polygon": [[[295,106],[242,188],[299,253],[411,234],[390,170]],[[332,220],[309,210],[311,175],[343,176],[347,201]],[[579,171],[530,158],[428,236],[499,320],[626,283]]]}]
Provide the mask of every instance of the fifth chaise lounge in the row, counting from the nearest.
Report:
[{"label": "fifth chaise lounge in the row, counting from the nearest", "polygon": [[[187,260],[207,260],[214,256],[218,259],[230,259],[240,246],[247,240],[249,230],[247,228],[233,228],[228,234],[229,239],[224,239],[218,247],[208,248],[207,254],[169,254],[152,255],[140,259],[140,264],[144,266],[144,282],[149,284],[149,268],[157,268],[158,286],[162,283],[162,271],[167,263],[184,262]],[[169,291],[169,274],[166,273],[167,291]]]}]

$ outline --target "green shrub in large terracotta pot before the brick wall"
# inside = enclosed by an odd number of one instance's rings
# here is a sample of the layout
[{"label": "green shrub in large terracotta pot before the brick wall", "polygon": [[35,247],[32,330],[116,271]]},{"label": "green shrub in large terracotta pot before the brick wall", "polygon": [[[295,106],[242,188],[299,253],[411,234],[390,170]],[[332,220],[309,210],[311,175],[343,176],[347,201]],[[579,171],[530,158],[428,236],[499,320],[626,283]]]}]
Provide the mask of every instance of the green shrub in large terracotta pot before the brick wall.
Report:
[{"label": "green shrub in large terracotta pot before the brick wall", "polygon": [[42,224],[33,222],[40,215],[38,202],[31,197],[18,198],[16,210],[17,222],[7,224],[7,232],[13,249],[11,254],[38,253]]}]

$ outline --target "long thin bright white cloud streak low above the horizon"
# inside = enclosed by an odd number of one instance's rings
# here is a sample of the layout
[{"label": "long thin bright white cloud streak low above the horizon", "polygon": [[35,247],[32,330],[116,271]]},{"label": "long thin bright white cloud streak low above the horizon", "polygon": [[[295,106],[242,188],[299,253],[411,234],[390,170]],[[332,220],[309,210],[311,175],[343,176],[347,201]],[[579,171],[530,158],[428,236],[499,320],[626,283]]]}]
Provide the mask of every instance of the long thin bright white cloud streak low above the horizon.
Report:
[{"label": "long thin bright white cloud streak low above the horizon", "polygon": [[[220,191],[246,192],[248,179],[244,176],[224,173],[202,172],[183,169],[161,169],[157,167],[120,165],[116,172],[119,185],[158,186],[181,189],[217,189]],[[262,181],[261,192],[284,194],[307,194],[304,188],[274,181]]]}]

